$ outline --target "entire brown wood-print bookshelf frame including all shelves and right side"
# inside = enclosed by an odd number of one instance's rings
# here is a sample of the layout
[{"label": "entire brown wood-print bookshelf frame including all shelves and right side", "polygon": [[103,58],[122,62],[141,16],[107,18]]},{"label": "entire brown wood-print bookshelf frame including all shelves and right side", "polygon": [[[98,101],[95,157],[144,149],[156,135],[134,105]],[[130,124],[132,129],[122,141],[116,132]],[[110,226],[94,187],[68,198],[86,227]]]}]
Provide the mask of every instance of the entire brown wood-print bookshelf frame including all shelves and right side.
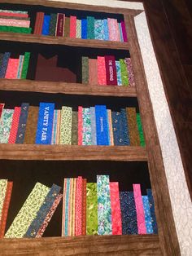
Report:
[{"label": "entire brown wood-print bookshelf frame including all shelves and right side", "polygon": [[[89,11],[104,11],[124,14],[124,21],[126,28],[129,27],[129,46],[125,43],[119,44],[119,47],[125,46],[130,51],[133,60],[133,70],[136,81],[136,92],[124,90],[124,88],[107,88],[96,86],[80,85],[76,90],[76,84],[73,84],[73,89],[70,89],[65,83],[59,83],[59,88],[56,90],[55,86],[46,85],[44,82],[31,82],[28,81],[26,85],[24,82],[15,81],[0,81],[0,90],[30,90],[30,91],[46,91],[51,93],[62,92],[64,94],[84,94],[84,95],[115,95],[114,96],[136,96],[141,111],[143,130],[146,138],[146,148],[133,148],[133,147],[81,147],[81,146],[38,146],[38,145],[0,145],[0,159],[41,159],[41,160],[111,160],[111,161],[147,161],[150,176],[151,186],[155,199],[155,214],[158,223],[158,235],[140,235],[140,236],[80,236],[80,237],[47,237],[41,239],[6,239],[0,241],[0,249],[3,255],[24,254],[24,255],[53,255],[54,254],[124,254],[124,255],[180,255],[180,249],[177,241],[176,227],[172,216],[172,206],[168,193],[168,184],[165,176],[164,162],[162,158],[161,148],[159,146],[158,134],[153,117],[151,107],[151,99],[147,89],[146,76],[142,64],[141,52],[137,42],[137,34],[134,27],[133,16],[139,14],[141,11],[116,9],[111,7],[94,7],[81,4],[63,3],[63,2],[50,2],[46,0],[25,2],[21,0],[7,0],[0,1],[7,3],[20,3],[30,5],[41,5],[46,7],[64,7],[76,10],[89,10]],[[2,33],[3,35],[3,33]],[[15,35],[5,34],[5,38],[1,40],[11,40],[15,42],[36,42],[39,43],[58,43],[67,44],[72,46],[72,40],[60,42],[57,38],[45,38],[42,42],[40,38],[32,35]],[[11,38],[12,37],[12,38]],[[28,38],[27,38],[28,37]],[[11,39],[10,39],[11,38]],[[28,40],[28,41],[27,41]],[[85,41],[84,41],[85,42]],[[109,46],[110,45],[110,46]],[[113,42],[109,45],[105,43],[105,48],[116,48]],[[88,42],[88,47],[103,47],[101,42],[97,46],[97,42]],[[124,48],[118,48],[124,49]],[[12,84],[11,84],[12,83]],[[56,82],[55,82],[56,83]],[[49,86],[49,88],[48,88]],[[67,88],[68,86],[68,88]],[[79,85],[78,85],[79,86]],[[84,88],[85,87],[85,88]],[[111,87],[111,86],[110,86]],[[114,86],[115,87],[115,86]],[[47,91],[48,90],[48,91]],[[76,93],[74,93],[76,91]],[[38,152],[39,150],[39,152]],[[46,151],[47,150],[47,151]],[[57,153],[63,154],[68,152],[67,157],[56,157]],[[76,157],[74,157],[74,152]],[[120,158],[119,158],[120,157]]]}]

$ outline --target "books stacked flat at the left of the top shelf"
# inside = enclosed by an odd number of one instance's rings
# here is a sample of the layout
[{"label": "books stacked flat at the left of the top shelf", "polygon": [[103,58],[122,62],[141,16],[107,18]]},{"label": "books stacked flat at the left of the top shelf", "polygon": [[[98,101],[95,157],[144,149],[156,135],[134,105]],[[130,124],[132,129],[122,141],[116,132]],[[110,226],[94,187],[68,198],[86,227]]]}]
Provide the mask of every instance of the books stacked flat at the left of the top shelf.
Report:
[{"label": "books stacked flat at the left of the top shelf", "polygon": [[0,10],[0,32],[31,33],[28,11]]}]

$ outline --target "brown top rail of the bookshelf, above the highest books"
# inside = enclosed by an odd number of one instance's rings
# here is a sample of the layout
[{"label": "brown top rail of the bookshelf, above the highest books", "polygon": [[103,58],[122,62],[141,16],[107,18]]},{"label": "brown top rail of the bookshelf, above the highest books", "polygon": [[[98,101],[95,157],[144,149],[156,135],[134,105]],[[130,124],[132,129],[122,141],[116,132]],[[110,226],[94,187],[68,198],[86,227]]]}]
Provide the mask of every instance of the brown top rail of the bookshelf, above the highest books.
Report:
[{"label": "brown top rail of the bookshelf, above the highest books", "polygon": [[82,11],[99,11],[107,13],[118,13],[118,14],[129,14],[137,15],[141,10],[131,10],[125,8],[116,7],[103,7],[103,6],[92,6],[88,4],[72,3],[72,2],[56,2],[56,1],[46,1],[46,0],[0,0],[1,2],[14,3],[14,4],[25,4],[25,5],[39,5],[44,7],[53,8],[66,8],[72,10],[82,10]]}]

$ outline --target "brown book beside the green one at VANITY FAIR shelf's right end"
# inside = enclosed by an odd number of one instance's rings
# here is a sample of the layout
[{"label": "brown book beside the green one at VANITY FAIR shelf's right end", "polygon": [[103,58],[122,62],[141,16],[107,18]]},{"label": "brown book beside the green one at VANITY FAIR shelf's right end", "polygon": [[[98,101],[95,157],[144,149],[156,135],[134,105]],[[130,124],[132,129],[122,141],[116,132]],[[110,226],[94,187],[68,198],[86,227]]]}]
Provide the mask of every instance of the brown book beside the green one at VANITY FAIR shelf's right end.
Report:
[{"label": "brown book beside the green one at VANITY FAIR shelf's right end", "polygon": [[127,119],[129,124],[129,138],[131,146],[139,146],[140,139],[137,128],[137,113],[136,108],[126,108]]}]

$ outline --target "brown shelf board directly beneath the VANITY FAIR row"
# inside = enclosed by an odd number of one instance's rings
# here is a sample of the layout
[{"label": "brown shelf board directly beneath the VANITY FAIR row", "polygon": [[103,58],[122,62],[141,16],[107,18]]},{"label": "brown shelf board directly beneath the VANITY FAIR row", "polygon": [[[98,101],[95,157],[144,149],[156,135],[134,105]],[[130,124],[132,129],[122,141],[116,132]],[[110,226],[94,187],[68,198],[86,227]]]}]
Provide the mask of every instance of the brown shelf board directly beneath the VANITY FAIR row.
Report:
[{"label": "brown shelf board directly beneath the VANITY FAIR row", "polygon": [[147,161],[147,155],[130,146],[0,144],[0,159]]}]

